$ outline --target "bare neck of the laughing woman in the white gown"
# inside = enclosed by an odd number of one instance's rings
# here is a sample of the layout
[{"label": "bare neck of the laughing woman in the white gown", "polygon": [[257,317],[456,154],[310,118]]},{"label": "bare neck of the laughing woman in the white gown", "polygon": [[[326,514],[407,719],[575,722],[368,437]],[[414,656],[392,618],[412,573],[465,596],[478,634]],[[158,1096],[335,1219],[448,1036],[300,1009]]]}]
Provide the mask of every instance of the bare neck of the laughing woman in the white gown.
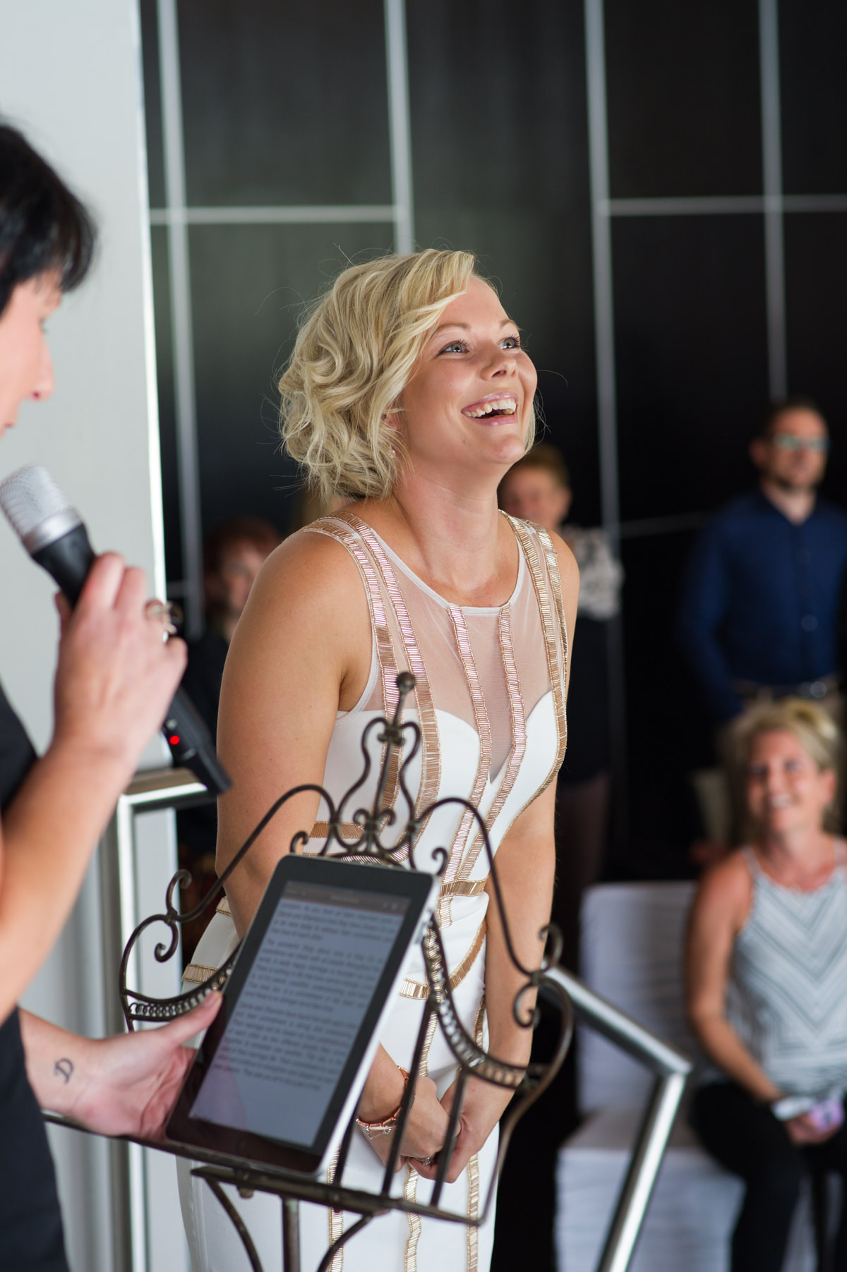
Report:
[{"label": "bare neck of the laughing woman in the white gown", "polygon": [[458,491],[449,482],[403,480],[387,500],[366,500],[362,519],[439,595],[500,605],[518,577],[518,544],[497,510],[496,485]]}]

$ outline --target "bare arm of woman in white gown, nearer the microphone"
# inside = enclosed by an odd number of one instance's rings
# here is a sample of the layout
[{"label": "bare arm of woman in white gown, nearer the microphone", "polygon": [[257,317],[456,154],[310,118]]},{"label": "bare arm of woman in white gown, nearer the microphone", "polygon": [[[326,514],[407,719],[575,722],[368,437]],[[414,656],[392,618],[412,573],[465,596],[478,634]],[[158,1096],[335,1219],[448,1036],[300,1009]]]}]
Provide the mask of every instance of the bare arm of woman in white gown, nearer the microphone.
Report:
[{"label": "bare arm of woman in white gown, nearer the microphone", "polygon": [[[217,752],[233,786],[217,805],[219,874],[280,795],[323,784],[336,712],[361,696],[370,650],[368,600],[348,553],[320,534],[277,548],[253,585],[224,670]],[[228,880],[239,932],[291,837],[318,815],[317,795],[290,800]]]}]

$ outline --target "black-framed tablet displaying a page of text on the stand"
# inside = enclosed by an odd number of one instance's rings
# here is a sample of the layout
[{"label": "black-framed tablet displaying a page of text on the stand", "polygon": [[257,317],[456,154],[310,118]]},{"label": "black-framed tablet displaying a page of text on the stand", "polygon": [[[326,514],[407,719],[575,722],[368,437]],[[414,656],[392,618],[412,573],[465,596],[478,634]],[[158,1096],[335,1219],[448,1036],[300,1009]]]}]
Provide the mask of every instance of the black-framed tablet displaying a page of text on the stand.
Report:
[{"label": "black-framed tablet displaying a page of text on the stand", "polygon": [[168,1136],[285,1165],[285,1152],[263,1147],[272,1142],[305,1155],[295,1169],[320,1160],[342,1112],[355,1108],[366,1053],[435,889],[430,875],[407,869],[285,857]]}]

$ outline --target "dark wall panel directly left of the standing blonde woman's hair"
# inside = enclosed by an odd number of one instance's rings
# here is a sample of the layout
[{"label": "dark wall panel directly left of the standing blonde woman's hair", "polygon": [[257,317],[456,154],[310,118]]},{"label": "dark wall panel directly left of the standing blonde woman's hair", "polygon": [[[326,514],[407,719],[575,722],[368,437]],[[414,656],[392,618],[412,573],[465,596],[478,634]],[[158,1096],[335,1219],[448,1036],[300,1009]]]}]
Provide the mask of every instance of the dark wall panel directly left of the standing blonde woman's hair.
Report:
[{"label": "dark wall panel directly left of the standing blonde woman's hair", "polygon": [[388,225],[193,226],[192,301],[203,528],[289,523],[295,472],[279,453],[275,369],[304,301],[348,258],[390,249]]}]

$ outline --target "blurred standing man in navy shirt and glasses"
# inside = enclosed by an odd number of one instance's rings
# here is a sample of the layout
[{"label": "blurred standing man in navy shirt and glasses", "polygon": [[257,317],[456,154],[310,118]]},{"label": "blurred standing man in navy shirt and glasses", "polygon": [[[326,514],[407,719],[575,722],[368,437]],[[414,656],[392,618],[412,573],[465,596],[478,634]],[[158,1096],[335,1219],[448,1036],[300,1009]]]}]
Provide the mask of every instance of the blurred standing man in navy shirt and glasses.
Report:
[{"label": "blurred standing man in navy shirt and glasses", "polygon": [[755,698],[838,701],[847,516],[818,495],[828,450],[813,402],[775,404],[750,443],[758,488],[717,513],[692,555],[679,637],[720,724]]}]

